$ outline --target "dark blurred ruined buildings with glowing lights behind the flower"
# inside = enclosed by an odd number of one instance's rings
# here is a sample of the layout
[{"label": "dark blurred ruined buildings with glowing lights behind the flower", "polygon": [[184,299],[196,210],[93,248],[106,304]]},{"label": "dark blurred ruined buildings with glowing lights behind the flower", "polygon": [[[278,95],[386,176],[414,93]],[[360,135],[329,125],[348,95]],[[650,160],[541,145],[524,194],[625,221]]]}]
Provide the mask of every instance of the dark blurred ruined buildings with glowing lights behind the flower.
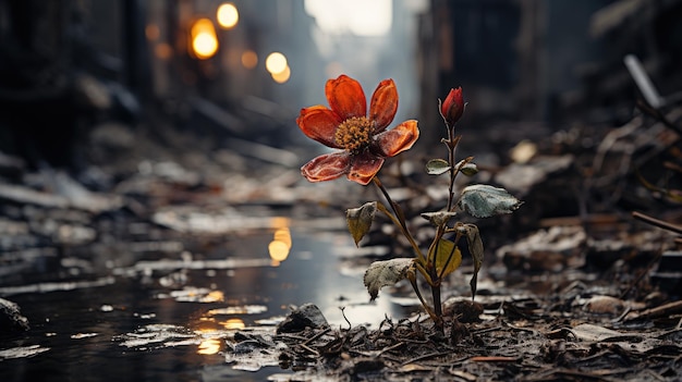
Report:
[{"label": "dark blurred ruined buildings with glowing lights behind the flower", "polygon": [[300,108],[341,73],[367,94],[394,78],[397,120],[428,128],[456,86],[476,128],[618,123],[637,96],[625,54],[661,94],[682,85],[681,15],[679,0],[0,0],[0,150],[77,162],[88,126],[149,110],[217,146],[296,145]]}]

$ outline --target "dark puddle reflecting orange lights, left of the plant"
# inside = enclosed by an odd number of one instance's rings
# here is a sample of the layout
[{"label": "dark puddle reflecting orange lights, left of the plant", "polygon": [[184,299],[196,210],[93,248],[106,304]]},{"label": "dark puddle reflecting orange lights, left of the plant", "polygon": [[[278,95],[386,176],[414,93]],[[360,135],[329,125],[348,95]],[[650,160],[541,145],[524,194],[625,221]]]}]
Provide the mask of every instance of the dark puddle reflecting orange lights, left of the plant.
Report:
[{"label": "dark puddle reflecting orange lights, left of the plant", "polygon": [[115,268],[72,259],[59,267],[95,271],[83,280],[0,285],[0,296],[17,303],[32,324],[2,337],[0,380],[281,380],[288,370],[276,365],[234,370],[226,340],[236,330],[272,328],[305,303],[344,328],[343,315],[353,325],[391,315],[386,298],[367,304],[361,273],[340,271],[339,254],[352,245],[344,233],[320,239],[278,222],[210,256],[148,250]]}]

